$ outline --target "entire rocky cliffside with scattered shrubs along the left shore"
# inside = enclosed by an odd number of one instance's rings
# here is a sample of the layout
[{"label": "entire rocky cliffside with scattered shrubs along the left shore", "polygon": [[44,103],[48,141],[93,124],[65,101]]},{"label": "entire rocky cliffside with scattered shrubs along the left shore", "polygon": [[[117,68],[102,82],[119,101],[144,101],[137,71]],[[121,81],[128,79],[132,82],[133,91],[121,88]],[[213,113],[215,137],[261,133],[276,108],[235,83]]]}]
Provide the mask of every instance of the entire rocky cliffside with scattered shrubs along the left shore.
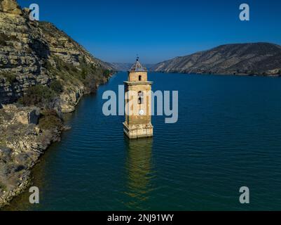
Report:
[{"label": "entire rocky cliffside with scattered shrubs along the left shore", "polygon": [[29,10],[0,0],[0,207],[30,183],[31,169],[64,129],[62,113],[112,74],[110,64]]}]

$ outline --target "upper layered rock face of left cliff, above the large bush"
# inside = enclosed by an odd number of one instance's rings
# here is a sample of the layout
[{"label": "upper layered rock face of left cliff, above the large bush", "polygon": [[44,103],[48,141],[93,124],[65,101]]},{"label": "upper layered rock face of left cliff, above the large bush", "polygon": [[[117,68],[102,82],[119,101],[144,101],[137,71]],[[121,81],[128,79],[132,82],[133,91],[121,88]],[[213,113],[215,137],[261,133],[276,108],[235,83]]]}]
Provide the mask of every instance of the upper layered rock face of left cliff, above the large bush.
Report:
[{"label": "upper layered rock face of left cliff, above the large bush", "polygon": [[59,79],[65,86],[60,105],[71,111],[78,101],[73,96],[107,80],[102,71],[111,70],[111,65],[94,58],[54,25],[29,21],[16,1],[1,0],[0,6],[0,103],[13,103],[30,86],[48,86]]}]

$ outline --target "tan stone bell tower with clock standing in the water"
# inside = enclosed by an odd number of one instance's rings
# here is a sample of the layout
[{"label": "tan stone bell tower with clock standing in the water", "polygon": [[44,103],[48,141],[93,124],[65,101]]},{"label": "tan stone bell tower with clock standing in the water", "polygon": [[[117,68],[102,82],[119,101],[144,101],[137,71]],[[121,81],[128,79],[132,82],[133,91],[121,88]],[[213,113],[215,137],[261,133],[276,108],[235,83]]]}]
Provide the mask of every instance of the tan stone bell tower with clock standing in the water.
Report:
[{"label": "tan stone bell tower with clock standing in the water", "polygon": [[139,58],[128,71],[125,84],[124,133],[129,139],[153,136],[151,124],[151,85],[147,81],[147,70],[139,63]]}]

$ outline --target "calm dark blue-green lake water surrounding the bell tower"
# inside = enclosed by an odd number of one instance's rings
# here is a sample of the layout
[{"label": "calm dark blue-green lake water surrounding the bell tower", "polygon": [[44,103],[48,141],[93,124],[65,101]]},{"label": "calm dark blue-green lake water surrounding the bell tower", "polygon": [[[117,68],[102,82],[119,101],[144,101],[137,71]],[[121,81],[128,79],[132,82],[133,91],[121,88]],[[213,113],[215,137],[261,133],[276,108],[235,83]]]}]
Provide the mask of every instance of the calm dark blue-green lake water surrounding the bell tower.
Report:
[{"label": "calm dark blue-green lake water surrounding the bell tower", "polygon": [[65,115],[72,129],[34,169],[40,204],[25,193],[8,210],[281,210],[281,79],[151,73],[154,91],[179,91],[179,121],[153,117],[155,136],[138,141],[102,114],[125,79]]}]

